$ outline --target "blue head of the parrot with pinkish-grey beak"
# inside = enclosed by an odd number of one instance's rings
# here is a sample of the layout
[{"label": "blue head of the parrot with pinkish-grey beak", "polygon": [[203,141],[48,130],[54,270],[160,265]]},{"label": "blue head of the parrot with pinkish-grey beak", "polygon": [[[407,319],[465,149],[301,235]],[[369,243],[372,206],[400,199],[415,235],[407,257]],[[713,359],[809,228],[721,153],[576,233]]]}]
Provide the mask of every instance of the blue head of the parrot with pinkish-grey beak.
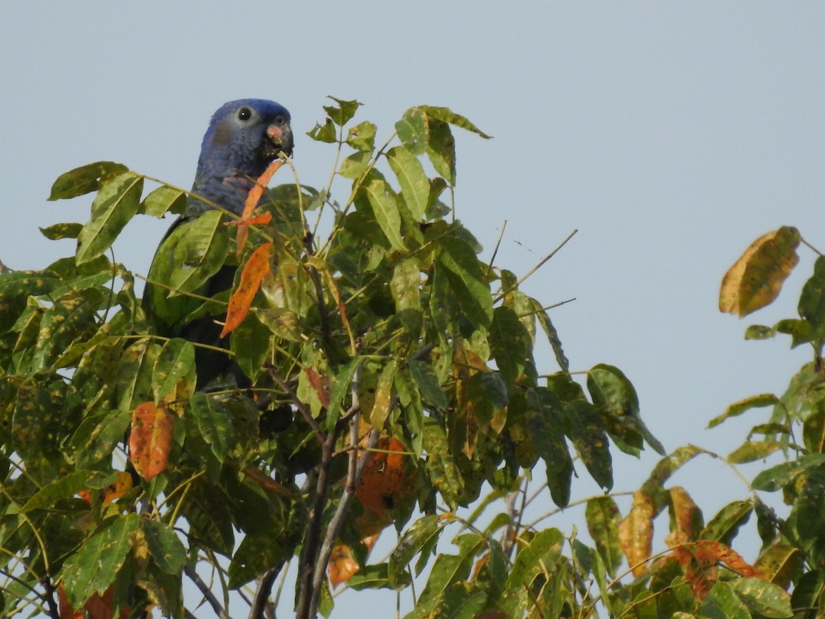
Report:
[{"label": "blue head of the parrot with pinkish-grey beak", "polygon": [[224,103],[204,135],[192,191],[239,215],[252,179],[279,154],[291,156],[292,146],[284,106],[266,99]]}]

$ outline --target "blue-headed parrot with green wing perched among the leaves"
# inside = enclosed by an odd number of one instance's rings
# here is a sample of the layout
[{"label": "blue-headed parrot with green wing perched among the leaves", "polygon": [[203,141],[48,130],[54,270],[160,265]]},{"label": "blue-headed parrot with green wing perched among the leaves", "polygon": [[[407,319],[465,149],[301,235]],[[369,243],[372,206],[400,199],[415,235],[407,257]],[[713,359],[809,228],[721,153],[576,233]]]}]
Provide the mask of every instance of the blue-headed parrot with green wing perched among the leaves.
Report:
[{"label": "blue-headed parrot with green wing perched among the leaves", "polygon": [[[281,154],[292,155],[294,140],[290,120],[290,112],[284,106],[266,99],[238,99],[224,103],[214,112],[200,147],[186,210],[164,235],[149,267],[142,307],[159,335],[228,347],[221,341],[221,328],[212,315],[184,321],[201,305],[200,300],[186,295],[169,296],[167,288],[153,286],[151,282],[169,284],[174,272],[181,273],[181,265],[188,257],[186,243],[199,234],[196,222],[201,215],[214,211],[212,204],[235,215],[243,213],[255,179]],[[237,267],[221,262],[211,269],[214,273],[193,291],[197,295],[212,297],[232,286]],[[196,347],[195,365],[198,390],[229,372],[234,374],[239,386],[242,382],[248,383],[240,368],[224,352]]]}]

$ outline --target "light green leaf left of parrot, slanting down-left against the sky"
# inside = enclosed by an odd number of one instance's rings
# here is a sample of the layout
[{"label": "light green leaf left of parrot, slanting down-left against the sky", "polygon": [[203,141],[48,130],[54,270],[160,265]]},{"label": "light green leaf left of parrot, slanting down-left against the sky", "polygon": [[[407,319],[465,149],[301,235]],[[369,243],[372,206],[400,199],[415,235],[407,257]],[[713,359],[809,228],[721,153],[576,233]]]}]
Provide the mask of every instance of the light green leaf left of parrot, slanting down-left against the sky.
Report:
[{"label": "light green leaf left of parrot, slanting down-left against the sky", "polygon": [[140,206],[143,177],[123,172],[102,182],[92,202],[92,218],[78,234],[78,264],[94,260],[111,247]]}]

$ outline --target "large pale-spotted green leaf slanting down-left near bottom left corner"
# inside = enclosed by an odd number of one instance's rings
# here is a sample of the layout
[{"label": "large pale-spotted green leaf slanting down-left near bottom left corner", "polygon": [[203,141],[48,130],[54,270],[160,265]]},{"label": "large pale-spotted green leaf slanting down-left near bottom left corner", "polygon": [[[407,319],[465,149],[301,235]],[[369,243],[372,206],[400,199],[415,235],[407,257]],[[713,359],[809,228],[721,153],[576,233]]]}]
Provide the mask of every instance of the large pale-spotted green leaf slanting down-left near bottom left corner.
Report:
[{"label": "large pale-spotted green leaf slanting down-left near bottom left corner", "polygon": [[92,593],[102,595],[115,582],[139,524],[136,513],[115,517],[110,527],[85,541],[80,550],[66,560],[63,584],[73,607],[81,608]]}]

